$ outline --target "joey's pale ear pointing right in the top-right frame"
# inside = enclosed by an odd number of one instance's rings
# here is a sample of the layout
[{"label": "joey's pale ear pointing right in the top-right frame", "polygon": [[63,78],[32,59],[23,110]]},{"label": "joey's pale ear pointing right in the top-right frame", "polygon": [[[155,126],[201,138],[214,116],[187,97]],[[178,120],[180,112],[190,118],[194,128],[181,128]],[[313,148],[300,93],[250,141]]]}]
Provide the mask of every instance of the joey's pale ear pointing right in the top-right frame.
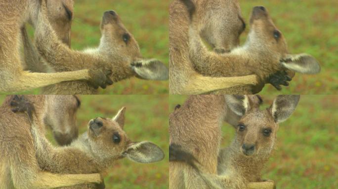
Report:
[{"label": "joey's pale ear pointing right in the top-right frame", "polygon": [[287,55],[280,60],[280,63],[282,66],[300,73],[316,74],[321,70],[319,62],[308,54]]}]

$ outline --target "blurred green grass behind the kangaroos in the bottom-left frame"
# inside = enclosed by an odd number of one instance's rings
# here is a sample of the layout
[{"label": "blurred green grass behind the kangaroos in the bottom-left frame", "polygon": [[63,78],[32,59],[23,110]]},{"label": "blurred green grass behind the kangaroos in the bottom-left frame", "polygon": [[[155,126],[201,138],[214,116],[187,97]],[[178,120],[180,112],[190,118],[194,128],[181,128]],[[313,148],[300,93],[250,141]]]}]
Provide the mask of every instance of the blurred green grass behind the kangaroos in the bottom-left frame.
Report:
[{"label": "blurred green grass behind the kangaroos in the bottom-left frame", "polygon": [[[0,103],[4,99],[0,95]],[[141,164],[127,158],[117,160],[104,173],[107,189],[168,189],[168,95],[83,95],[78,111],[79,133],[96,117],[113,117],[122,106],[127,107],[125,131],[133,141],[151,141],[165,152],[165,159]],[[55,144],[48,132],[48,138]]]}]

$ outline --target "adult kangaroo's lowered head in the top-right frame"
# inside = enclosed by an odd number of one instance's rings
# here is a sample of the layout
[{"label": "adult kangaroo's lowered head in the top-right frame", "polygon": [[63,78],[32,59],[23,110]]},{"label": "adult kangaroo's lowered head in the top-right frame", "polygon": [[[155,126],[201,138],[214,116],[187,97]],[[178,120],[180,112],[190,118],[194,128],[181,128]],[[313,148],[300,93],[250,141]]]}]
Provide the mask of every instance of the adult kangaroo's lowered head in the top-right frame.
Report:
[{"label": "adult kangaroo's lowered head in the top-right frame", "polygon": [[239,45],[245,22],[237,0],[205,0],[197,8],[201,36],[217,53],[230,51]]}]

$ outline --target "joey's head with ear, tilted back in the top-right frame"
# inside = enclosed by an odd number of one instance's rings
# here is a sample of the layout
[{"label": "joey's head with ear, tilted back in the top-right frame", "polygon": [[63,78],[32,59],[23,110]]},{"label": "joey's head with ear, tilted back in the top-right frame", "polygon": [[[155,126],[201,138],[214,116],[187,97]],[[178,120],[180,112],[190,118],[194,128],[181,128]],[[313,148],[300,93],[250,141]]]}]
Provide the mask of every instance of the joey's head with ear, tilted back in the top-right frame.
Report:
[{"label": "joey's head with ear, tilted back in the top-right frame", "polygon": [[271,63],[300,73],[320,72],[320,65],[312,56],[289,54],[286,39],[274,25],[265,7],[253,8],[250,28],[247,47],[259,54],[261,59],[273,60]]}]

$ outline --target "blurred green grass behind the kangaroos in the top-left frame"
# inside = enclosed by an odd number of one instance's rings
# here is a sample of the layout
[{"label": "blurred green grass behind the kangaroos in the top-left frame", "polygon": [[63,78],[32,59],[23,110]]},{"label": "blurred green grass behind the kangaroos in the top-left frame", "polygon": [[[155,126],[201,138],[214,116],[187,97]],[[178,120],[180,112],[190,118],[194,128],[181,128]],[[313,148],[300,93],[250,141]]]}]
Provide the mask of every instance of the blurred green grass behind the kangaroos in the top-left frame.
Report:
[{"label": "blurred green grass behind the kangaroos in the top-left frame", "polygon": [[[103,12],[115,10],[127,30],[138,42],[144,58],[156,58],[169,65],[167,0],[76,0],[72,24],[72,49],[97,47]],[[29,33],[33,36],[33,30]],[[130,78],[114,83],[99,94],[167,94],[169,81],[146,81]],[[40,90],[20,94],[39,94]]]}]

